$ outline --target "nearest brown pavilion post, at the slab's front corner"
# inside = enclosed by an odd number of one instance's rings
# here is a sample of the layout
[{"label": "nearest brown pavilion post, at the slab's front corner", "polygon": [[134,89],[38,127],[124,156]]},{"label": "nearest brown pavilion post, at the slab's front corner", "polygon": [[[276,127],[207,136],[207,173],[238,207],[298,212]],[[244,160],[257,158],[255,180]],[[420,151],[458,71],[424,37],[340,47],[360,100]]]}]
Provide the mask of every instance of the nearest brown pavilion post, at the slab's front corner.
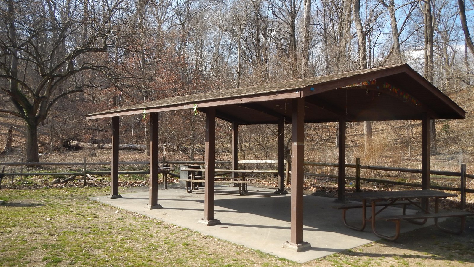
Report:
[{"label": "nearest brown pavilion post, at the slab's front corner", "polygon": [[303,242],[303,160],[304,160],[304,98],[292,100],[292,191],[290,242],[283,246],[296,251],[311,248]]}]

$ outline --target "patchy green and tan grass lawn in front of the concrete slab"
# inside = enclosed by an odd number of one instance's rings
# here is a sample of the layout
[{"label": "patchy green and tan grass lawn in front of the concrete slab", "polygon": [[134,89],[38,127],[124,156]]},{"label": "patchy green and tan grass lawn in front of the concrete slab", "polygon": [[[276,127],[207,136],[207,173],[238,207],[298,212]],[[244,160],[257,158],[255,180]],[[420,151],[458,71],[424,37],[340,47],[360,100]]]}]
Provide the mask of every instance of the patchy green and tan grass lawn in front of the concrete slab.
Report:
[{"label": "patchy green and tan grass lawn in front of the concrete slab", "polygon": [[108,192],[0,190],[0,266],[474,265],[472,220],[461,239],[427,227],[301,265],[88,199]]}]

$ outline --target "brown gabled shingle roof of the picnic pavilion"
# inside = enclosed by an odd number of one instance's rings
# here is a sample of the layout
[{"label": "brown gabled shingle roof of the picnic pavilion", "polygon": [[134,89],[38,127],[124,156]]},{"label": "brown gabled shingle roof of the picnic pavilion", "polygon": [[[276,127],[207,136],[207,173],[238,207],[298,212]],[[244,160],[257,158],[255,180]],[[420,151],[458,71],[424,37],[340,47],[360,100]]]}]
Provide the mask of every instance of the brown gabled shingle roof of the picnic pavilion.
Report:
[{"label": "brown gabled shingle roof of the picnic pavilion", "polygon": [[305,100],[306,123],[465,118],[465,111],[407,64],[182,95],[88,114],[87,119],[215,107],[238,124],[291,122],[291,99]]}]

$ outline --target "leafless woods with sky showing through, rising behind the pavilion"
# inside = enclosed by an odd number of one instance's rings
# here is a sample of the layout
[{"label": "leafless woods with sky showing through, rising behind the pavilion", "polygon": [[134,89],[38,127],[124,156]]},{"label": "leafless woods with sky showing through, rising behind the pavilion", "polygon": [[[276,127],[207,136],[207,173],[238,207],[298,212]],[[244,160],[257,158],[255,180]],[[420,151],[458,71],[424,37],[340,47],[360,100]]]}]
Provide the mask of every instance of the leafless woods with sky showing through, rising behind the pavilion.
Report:
[{"label": "leafless woods with sky showing through, rising behind the pavilion", "polygon": [[[67,139],[109,143],[109,121],[86,122],[84,114],[175,95],[409,63],[445,94],[469,97],[473,4],[0,0],[0,114],[24,122],[27,161],[34,162],[37,134],[48,136],[40,145],[51,149]],[[160,142],[187,147],[194,159],[202,116],[160,116]],[[146,116],[123,117],[123,143],[147,143],[146,125]],[[369,136],[370,125],[365,129]],[[272,131],[254,126],[240,133]]]}]

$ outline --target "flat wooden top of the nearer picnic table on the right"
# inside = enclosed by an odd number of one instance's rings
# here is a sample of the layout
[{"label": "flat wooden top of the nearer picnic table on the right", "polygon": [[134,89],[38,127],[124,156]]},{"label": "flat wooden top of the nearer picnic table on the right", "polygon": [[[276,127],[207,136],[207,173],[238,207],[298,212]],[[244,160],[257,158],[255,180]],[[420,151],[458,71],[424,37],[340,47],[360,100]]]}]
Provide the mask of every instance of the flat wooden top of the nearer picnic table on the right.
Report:
[{"label": "flat wooden top of the nearer picnic table on the right", "polygon": [[456,194],[436,190],[402,190],[402,191],[376,191],[376,192],[352,192],[346,196],[361,200],[393,200],[393,199],[417,199],[417,198],[447,198],[457,197]]}]

